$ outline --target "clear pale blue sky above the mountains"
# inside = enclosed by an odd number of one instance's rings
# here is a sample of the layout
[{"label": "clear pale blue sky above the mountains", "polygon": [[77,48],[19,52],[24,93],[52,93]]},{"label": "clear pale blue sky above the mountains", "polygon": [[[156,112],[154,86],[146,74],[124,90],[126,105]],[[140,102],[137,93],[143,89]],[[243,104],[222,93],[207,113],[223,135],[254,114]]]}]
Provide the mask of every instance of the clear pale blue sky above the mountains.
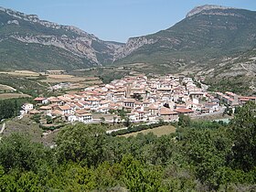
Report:
[{"label": "clear pale blue sky above the mountains", "polygon": [[256,0],[0,0],[5,8],[123,43],[172,27],[195,6],[207,4],[256,11]]}]

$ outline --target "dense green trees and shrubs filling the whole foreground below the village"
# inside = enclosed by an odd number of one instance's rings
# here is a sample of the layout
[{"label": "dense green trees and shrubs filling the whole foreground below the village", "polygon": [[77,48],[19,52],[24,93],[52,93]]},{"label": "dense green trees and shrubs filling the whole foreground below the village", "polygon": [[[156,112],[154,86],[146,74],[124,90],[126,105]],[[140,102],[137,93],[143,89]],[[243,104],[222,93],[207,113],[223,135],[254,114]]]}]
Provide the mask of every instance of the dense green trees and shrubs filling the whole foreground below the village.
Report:
[{"label": "dense green trees and shrubs filling the whole foreground below the village", "polygon": [[253,191],[256,105],[231,123],[180,118],[176,133],[113,137],[102,125],[63,128],[50,149],[27,135],[0,143],[1,191]]}]

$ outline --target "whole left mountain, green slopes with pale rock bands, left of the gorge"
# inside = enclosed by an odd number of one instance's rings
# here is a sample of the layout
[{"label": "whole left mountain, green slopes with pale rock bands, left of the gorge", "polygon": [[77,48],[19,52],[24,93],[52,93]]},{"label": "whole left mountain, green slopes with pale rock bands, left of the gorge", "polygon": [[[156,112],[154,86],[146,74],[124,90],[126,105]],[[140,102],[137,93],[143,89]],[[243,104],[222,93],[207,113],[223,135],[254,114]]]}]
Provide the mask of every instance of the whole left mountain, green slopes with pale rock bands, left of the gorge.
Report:
[{"label": "whole left mountain, green slopes with pale rock bands, left of the gorge", "polygon": [[0,9],[0,69],[85,69],[112,62],[115,48],[77,27]]}]

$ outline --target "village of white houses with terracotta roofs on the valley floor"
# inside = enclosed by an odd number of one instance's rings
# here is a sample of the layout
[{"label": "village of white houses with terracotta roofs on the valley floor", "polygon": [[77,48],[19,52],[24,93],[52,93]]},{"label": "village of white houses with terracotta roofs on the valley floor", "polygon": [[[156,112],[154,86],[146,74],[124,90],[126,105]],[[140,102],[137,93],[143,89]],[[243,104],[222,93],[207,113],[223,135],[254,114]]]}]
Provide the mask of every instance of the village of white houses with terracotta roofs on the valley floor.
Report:
[{"label": "village of white houses with terracotta roofs on the valley floor", "polygon": [[[25,103],[21,117],[43,114],[61,118],[67,123],[119,123],[129,118],[133,123],[177,122],[179,114],[191,117],[224,112],[225,108],[255,101],[232,92],[209,93],[197,87],[198,82],[185,76],[126,76],[109,84],[91,86],[73,94],[58,97],[37,97],[37,105]],[[220,104],[223,103],[226,106]],[[99,117],[105,114],[105,117]],[[100,115],[101,116],[101,115]]]}]

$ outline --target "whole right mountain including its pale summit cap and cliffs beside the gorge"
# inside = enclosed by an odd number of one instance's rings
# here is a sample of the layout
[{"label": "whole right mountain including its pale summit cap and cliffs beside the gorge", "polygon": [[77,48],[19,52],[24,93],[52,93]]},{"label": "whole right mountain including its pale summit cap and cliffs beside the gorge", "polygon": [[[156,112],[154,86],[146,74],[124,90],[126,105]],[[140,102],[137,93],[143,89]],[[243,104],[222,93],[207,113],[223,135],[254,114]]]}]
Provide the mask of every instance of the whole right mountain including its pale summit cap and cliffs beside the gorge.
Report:
[{"label": "whole right mountain including its pale summit cap and cliffs beside the gorge", "polygon": [[[202,54],[201,58],[207,56],[212,59],[215,54],[222,54],[223,50],[229,54],[250,49],[256,45],[255,18],[256,12],[245,9],[216,5],[197,6],[173,27],[148,36],[129,38],[128,42],[116,51],[114,60],[122,59],[126,63],[130,60],[146,62],[151,54],[169,54],[170,57],[166,60],[160,58],[158,63],[161,63],[184,59],[173,57],[174,54],[184,53],[185,56],[187,51],[197,52],[203,49],[206,52],[211,51],[212,56]],[[138,56],[140,59],[134,59]],[[193,59],[187,62],[191,60]]]}]

